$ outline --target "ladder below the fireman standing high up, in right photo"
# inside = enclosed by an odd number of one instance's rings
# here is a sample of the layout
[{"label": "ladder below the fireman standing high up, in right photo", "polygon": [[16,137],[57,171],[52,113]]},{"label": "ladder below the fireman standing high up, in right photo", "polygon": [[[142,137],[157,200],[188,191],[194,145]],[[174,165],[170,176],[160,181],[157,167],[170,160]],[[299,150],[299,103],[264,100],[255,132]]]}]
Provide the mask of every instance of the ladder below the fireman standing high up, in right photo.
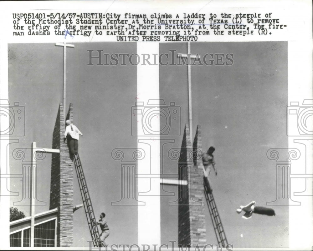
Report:
[{"label": "ladder below the fireman standing high up, in right photo", "polygon": [[219,217],[218,210],[214,201],[212,188],[210,187],[210,184],[206,177],[203,177],[203,180],[204,180],[204,194],[208,203],[208,208],[209,208],[211,220],[213,223],[215,235],[216,235],[218,244],[223,245],[223,247],[225,248],[228,245],[228,242],[227,242],[227,238],[224,232],[221,218]]}]

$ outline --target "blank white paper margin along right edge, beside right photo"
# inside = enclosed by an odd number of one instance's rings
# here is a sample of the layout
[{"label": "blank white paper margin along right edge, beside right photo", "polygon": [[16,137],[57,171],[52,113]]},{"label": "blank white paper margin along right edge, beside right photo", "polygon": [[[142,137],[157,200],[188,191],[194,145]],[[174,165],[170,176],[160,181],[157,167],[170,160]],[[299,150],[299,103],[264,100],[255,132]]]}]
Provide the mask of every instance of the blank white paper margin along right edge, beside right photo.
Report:
[{"label": "blank white paper margin along right edge, beside right photo", "polygon": [[[300,13],[298,11],[299,9],[295,9],[295,13]],[[301,11],[301,17],[312,15],[311,8],[308,8],[305,12],[303,11]],[[305,23],[305,18],[302,21],[299,20],[299,22]],[[310,30],[311,36],[312,29],[308,28],[308,30]],[[295,105],[297,104],[295,102],[299,102],[299,105],[295,106],[297,110],[302,106],[303,99],[312,98],[312,72],[310,70],[310,67],[312,67],[312,53],[307,53],[308,48],[311,50],[312,40],[298,38],[297,41],[288,41],[288,105]],[[312,137],[296,136],[298,124],[295,118],[297,115],[288,114],[290,109],[292,108],[287,108],[286,111],[288,132],[291,135],[288,137],[288,147],[298,148],[301,157],[296,161],[292,161],[290,173],[289,248],[305,250],[312,247],[313,236],[313,197],[310,196],[312,194],[312,181],[307,175],[307,173],[312,173]],[[303,138],[307,139],[307,147],[301,143],[299,144],[299,139]],[[306,156],[309,156],[310,159],[306,159]],[[307,183],[305,184],[305,182]],[[297,193],[302,192],[304,187],[307,193],[303,193],[303,195],[309,196],[297,196],[299,195]],[[292,205],[292,200],[301,202],[301,205]]]}]

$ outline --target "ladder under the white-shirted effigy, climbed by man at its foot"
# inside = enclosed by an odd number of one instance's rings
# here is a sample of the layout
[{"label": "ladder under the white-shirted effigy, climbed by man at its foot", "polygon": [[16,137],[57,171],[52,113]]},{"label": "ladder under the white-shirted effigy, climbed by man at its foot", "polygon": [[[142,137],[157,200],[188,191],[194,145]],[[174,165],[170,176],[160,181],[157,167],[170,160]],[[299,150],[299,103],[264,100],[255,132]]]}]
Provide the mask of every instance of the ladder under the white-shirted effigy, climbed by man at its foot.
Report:
[{"label": "ladder under the white-shirted effigy, climbed by man at its foot", "polygon": [[81,197],[82,197],[83,203],[84,203],[85,214],[87,217],[87,222],[88,222],[92,242],[94,244],[94,247],[99,247],[100,242],[101,242],[100,235],[98,232],[98,227],[94,223],[95,213],[94,213],[94,210],[92,208],[91,199],[90,199],[90,195],[88,192],[84,171],[83,171],[83,168],[82,168],[82,165],[80,162],[80,157],[79,157],[78,153],[74,154],[74,164],[75,164],[75,168],[76,168],[76,174],[77,174],[78,183],[79,183],[79,187],[80,187],[80,193],[81,193]]}]

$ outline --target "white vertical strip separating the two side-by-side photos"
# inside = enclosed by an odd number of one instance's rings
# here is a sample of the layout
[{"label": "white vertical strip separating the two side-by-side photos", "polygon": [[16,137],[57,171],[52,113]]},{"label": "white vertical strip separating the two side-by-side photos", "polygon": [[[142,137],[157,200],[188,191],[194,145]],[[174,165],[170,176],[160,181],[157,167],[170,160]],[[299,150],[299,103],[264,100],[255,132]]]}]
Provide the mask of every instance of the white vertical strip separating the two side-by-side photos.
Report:
[{"label": "white vertical strip separating the two side-by-side photos", "polygon": [[[149,99],[154,100],[153,109],[158,113],[157,108],[159,99],[159,43],[137,43],[137,54],[140,57],[140,63],[137,65],[137,101],[144,102],[147,105]],[[143,55],[150,55],[152,64],[154,63],[154,55],[157,54],[157,65],[142,64]],[[147,58],[147,55],[145,55]],[[151,59],[152,58],[152,59]],[[146,157],[138,160],[138,174],[156,174],[155,178],[139,178],[138,181],[138,200],[145,202],[145,206],[138,206],[138,245],[161,243],[161,204],[160,204],[160,136],[151,135],[143,136],[145,124],[142,125],[141,119],[145,112],[149,111],[149,107],[143,108],[143,114],[137,115],[137,130],[138,130],[138,148],[143,148],[146,152]],[[151,111],[151,110],[150,110]],[[146,128],[151,128],[157,132],[160,128],[160,117],[151,116],[151,125]],[[150,156],[151,153],[151,156]],[[141,176],[142,177],[142,176]],[[148,193],[145,193],[148,192]],[[142,193],[145,193],[145,196]],[[155,196],[158,195],[158,196]]]}]

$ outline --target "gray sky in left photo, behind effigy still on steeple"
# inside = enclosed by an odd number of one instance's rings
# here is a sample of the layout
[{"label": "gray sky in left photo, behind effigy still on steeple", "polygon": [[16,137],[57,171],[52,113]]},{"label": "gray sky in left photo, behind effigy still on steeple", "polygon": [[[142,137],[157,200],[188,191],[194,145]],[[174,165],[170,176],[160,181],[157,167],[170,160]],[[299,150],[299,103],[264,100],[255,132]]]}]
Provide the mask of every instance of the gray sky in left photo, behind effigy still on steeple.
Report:
[{"label": "gray sky in left photo, behind effigy still on steeple", "polygon": [[[70,43],[70,41],[67,41]],[[136,148],[131,136],[131,106],[136,101],[136,66],[87,66],[87,50],[103,53],[136,53],[136,43],[75,43],[67,48],[67,96],[74,105],[74,124],[83,133],[79,153],[96,218],[106,213],[110,236],[107,243],[137,243],[137,208],[111,206],[121,198],[121,163],[111,157],[114,148]],[[126,62],[127,63],[127,62]],[[8,45],[9,101],[25,106],[25,136],[11,145],[30,148],[51,148],[54,123],[62,102],[63,47],[54,43]],[[16,125],[19,127],[22,125]],[[27,150],[25,160],[29,161]],[[126,153],[126,158],[129,158]],[[10,155],[10,172],[21,173],[21,161]],[[38,162],[38,199],[46,206],[36,213],[49,210],[51,155]],[[11,191],[21,191],[21,180],[11,179]],[[21,196],[11,197],[19,201]],[[74,205],[82,203],[74,171]],[[29,215],[29,206],[18,206]],[[91,240],[84,209],[74,213],[74,246],[86,247]]]}]

